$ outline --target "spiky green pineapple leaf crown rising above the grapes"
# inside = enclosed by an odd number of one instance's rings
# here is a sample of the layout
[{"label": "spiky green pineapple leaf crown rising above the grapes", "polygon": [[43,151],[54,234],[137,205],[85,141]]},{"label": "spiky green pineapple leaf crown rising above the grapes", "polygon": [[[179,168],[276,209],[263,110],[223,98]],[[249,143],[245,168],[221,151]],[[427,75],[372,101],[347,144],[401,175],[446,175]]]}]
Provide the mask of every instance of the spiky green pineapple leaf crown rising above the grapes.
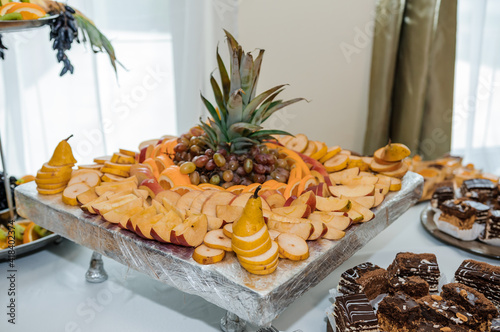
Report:
[{"label": "spiky green pineapple leaf crown rising above the grapes", "polygon": [[200,121],[200,126],[206,133],[204,142],[214,150],[223,146],[238,154],[247,152],[250,147],[265,140],[273,139],[271,135],[291,135],[283,130],[263,129],[261,124],[274,112],[305,99],[275,100],[284,90],[285,84],[255,96],[264,50],[259,50],[254,60],[252,54],[245,53],[229,32],[224,32],[229,46],[230,76],[217,48],[222,89],[213,74],[210,75],[217,108],[201,95],[203,104],[210,113],[207,122]]}]

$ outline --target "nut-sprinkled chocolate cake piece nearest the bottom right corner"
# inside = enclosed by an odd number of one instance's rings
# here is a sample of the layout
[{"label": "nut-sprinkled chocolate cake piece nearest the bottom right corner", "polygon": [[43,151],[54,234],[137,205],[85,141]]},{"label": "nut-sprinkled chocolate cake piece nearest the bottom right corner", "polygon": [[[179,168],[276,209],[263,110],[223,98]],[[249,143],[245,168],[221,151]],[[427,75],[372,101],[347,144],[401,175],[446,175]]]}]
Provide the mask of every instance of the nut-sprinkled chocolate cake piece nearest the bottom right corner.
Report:
[{"label": "nut-sprinkled chocolate cake piece nearest the bottom right corner", "polygon": [[463,307],[476,321],[483,322],[484,324],[481,323],[479,326],[482,331],[488,329],[489,322],[498,314],[496,307],[483,294],[459,283],[444,285],[441,296]]}]

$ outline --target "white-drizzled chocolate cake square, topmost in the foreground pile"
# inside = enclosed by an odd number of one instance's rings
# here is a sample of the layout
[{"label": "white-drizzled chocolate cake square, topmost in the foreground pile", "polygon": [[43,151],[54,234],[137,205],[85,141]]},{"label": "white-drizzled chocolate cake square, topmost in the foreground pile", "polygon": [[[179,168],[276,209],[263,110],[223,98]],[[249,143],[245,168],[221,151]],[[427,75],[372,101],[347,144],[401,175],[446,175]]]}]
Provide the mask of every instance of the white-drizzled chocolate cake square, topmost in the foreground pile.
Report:
[{"label": "white-drizzled chocolate cake square, topmost in the foreground pile", "polygon": [[387,268],[391,277],[416,276],[429,284],[429,291],[437,292],[441,273],[434,254],[414,254],[400,252]]}]

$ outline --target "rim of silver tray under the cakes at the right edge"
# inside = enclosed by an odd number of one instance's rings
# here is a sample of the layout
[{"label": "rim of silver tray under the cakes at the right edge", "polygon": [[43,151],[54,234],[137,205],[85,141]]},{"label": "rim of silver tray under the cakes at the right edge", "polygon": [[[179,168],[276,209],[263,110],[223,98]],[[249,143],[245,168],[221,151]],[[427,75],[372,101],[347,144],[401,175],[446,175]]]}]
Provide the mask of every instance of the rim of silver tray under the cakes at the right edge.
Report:
[{"label": "rim of silver tray under the cakes at the right edge", "polygon": [[480,241],[462,241],[451,235],[441,232],[434,222],[434,210],[430,205],[426,206],[420,214],[420,222],[425,230],[441,242],[451,244],[457,248],[473,254],[500,259],[500,247],[495,247]]}]

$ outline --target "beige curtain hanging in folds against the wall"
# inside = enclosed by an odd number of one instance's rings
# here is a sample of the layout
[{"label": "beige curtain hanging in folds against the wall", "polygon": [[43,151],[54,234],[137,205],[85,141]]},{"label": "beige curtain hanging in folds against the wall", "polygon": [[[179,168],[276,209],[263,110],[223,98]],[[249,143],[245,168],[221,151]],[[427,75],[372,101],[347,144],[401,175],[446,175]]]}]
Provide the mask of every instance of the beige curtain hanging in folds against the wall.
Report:
[{"label": "beige curtain hanging in folds against the wall", "polygon": [[450,149],[457,0],[379,0],[364,153],[391,139],[424,158]]}]

